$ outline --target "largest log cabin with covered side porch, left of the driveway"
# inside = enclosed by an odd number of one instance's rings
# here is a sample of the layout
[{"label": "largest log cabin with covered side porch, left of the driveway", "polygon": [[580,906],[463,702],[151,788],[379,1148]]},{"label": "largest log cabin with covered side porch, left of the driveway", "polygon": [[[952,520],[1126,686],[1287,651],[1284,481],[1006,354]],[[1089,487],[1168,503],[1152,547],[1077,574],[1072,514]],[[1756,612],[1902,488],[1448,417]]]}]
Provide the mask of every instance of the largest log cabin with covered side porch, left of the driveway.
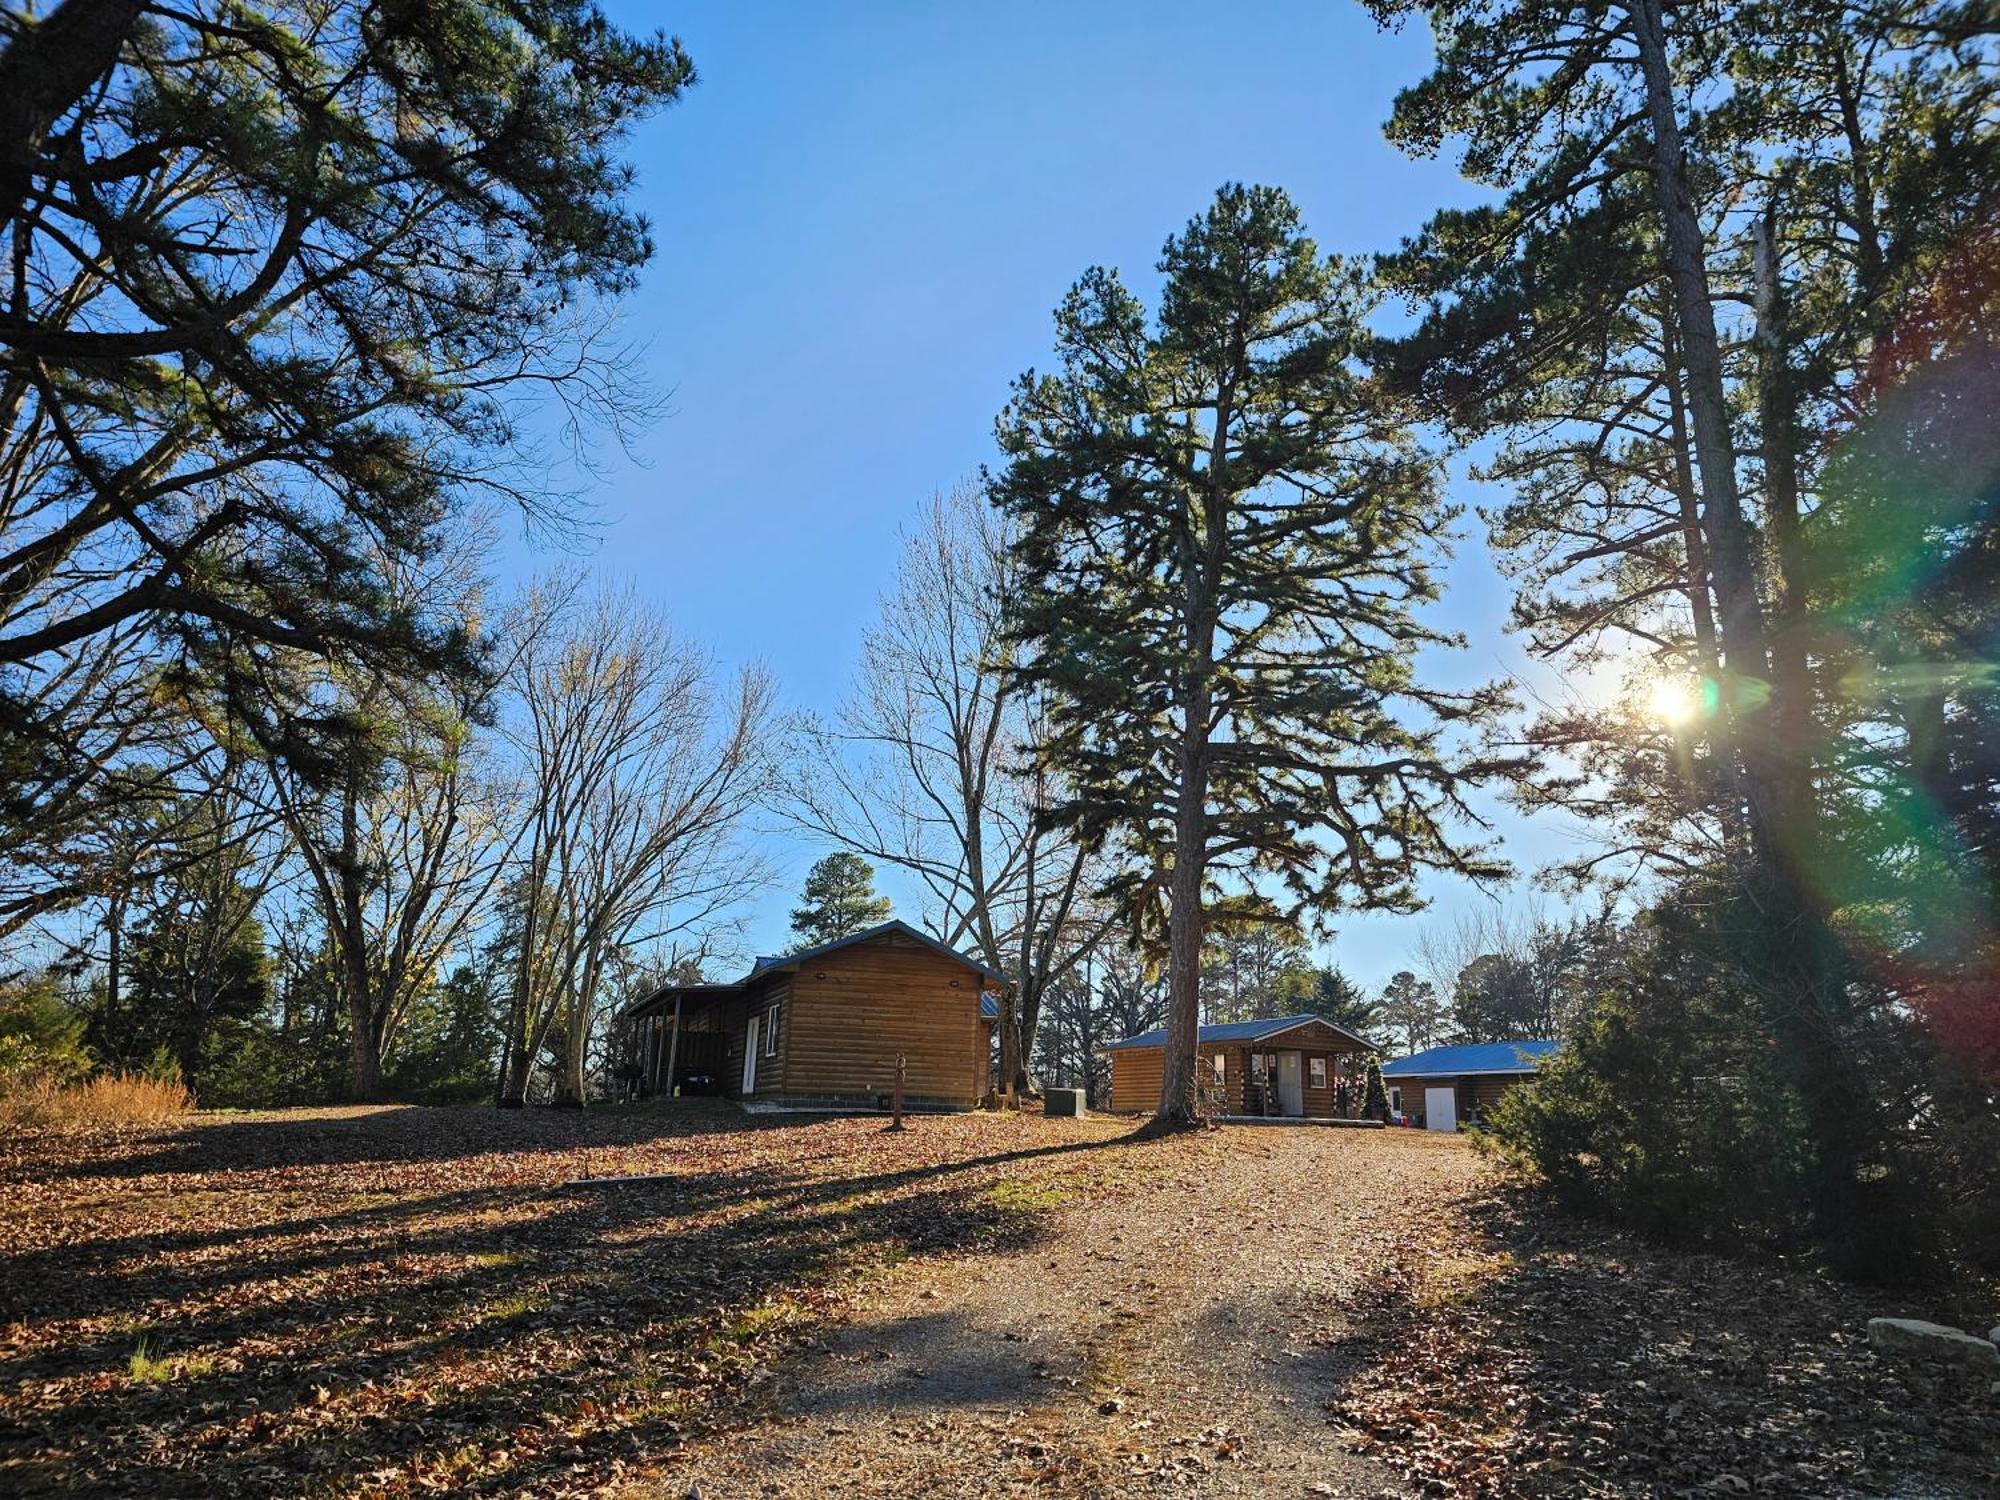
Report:
[{"label": "largest log cabin with covered side porch, left of the driveway", "polygon": [[1000,976],[906,922],[758,958],[730,984],[662,984],[620,1012],[628,1088],[772,1108],[970,1110],[986,1098]]}]

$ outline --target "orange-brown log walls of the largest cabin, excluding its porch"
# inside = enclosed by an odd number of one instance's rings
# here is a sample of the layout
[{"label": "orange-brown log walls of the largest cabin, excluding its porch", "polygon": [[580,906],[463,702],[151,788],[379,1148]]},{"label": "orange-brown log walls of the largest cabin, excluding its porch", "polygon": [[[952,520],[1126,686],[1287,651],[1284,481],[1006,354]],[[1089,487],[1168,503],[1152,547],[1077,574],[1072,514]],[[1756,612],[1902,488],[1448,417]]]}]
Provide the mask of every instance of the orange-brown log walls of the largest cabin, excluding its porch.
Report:
[{"label": "orange-brown log walls of the largest cabin, excluding its porch", "polygon": [[[762,986],[760,986],[762,988]],[[908,1058],[914,1102],[972,1106],[986,1092],[980,976],[920,944],[884,938],[812,958],[790,976],[780,1056],[758,1094],[874,1100]],[[738,1042],[740,1046],[740,1042]]]}]

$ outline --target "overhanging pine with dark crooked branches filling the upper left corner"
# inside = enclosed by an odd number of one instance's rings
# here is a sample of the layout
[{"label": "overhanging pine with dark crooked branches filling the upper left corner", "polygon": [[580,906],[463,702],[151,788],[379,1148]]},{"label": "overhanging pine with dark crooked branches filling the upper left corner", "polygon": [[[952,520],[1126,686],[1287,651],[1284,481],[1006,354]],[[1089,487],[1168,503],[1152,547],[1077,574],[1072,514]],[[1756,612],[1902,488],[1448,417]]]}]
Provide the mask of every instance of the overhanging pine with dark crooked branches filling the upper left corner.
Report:
[{"label": "overhanging pine with dark crooked branches filling the upper left corner", "polygon": [[290,660],[476,670],[384,566],[474,500],[568,524],[516,392],[646,410],[602,348],[652,250],[620,146],[692,80],[590,0],[8,6],[0,930],[174,794],[174,704],[330,784],[380,724]]}]

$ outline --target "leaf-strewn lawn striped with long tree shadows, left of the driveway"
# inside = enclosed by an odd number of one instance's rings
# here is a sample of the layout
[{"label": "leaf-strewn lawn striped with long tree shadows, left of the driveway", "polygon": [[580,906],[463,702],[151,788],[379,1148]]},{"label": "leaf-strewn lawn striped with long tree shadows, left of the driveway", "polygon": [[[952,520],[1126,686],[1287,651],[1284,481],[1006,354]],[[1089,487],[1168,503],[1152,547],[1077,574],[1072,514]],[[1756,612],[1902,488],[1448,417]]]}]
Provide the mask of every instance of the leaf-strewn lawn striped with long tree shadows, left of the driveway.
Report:
[{"label": "leaf-strewn lawn striped with long tree shadows, left of the driveway", "polygon": [[[856,1272],[1032,1244],[1038,1216],[994,1184],[1148,1150],[1028,1120],[886,1136],[874,1120],[726,1130],[708,1110],[420,1114],[428,1148],[400,1112],[216,1122],[190,1134],[218,1140],[140,1148],[174,1162],[146,1176],[204,1184],[176,1192],[134,1176],[96,1194],[78,1160],[70,1186],[90,1192],[36,1210],[0,1254],[0,1488],[588,1488],[724,1420]],[[488,1120],[544,1180],[492,1180]],[[566,1186],[586,1158],[664,1180]]]}]

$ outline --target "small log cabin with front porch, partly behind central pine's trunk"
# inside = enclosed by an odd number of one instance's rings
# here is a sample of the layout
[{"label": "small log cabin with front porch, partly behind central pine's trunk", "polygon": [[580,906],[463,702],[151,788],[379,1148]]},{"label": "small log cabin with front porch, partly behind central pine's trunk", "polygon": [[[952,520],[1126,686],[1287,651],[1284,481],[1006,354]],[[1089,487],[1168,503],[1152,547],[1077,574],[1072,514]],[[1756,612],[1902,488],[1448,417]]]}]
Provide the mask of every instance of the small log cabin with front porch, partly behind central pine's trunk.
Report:
[{"label": "small log cabin with front porch, partly behind central pine's trunk", "polygon": [[[1196,1032],[1208,1114],[1218,1118],[1340,1120],[1360,1112],[1360,1068],[1376,1046],[1324,1016],[1268,1016]],[[1110,1108],[1160,1108],[1166,1032],[1140,1032],[1100,1048],[1112,1060]],[[1346,1108],[1342,1108],[1346,1106]]]}]

